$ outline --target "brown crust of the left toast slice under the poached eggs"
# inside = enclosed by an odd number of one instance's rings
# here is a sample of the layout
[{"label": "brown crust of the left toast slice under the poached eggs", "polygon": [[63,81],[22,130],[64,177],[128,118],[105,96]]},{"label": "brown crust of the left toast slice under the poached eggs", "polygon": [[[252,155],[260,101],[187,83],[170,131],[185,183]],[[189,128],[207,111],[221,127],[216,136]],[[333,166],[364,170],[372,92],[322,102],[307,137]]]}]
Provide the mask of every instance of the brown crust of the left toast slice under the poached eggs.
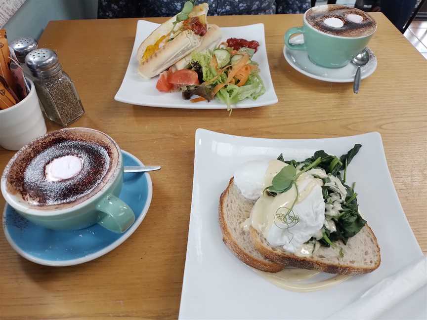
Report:
[{"label": "brown crust of the left toast slice under the poached eggs", "polygon": [[250,255],[245,252],[241,246],[237,243],[237,241],[233,238],[231,231],[229,230],[227,223],[225,221],[225,205],[224,202],[228,197],[230,192],[230,188],[233,185],[233,178],[230,179],[227,188],[221,194],[219,199],[219,226],[222,232],[222,240],[224,243],[230,248],[230,250],[244,263],[247,265],[254,267],[256,269],[266,271],[266,272],[279,272],[284,268],[282,263],[275,262],[267,262],[257,259],[256,257]]}]

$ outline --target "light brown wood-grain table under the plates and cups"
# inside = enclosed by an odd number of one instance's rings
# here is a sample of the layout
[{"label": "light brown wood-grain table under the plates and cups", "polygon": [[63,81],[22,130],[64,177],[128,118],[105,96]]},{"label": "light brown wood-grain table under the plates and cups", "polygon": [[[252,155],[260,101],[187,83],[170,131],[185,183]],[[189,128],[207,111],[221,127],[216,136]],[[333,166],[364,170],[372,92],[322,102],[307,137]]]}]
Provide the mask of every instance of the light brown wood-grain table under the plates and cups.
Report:
[{"label": "light brown wood-grain table under the plates and cups", "polygon": [[[21,258],[0,237],[1,319],[176,319],[181,296],[193,176],[194,132],[269,138],[338,137],[379,131],[409,223],[427,252],[427,63],[381,13],[370,47],[378,69],[352,84],[307,78],[283,58],[283,35],[302,15],[210,17],[220,26],[265,24],[279,103],[234,110],[132,106],[113,97],[125,74],[136,19],[53,21],[41,47],[56,50],[86,109],[74,126],[98,129],[147,164],[154,196],[138,230],[109,254],[51,268]],[[163,18],[149,19],[161,22]],[[153,88],[154,90],[154,88]],[[48,129],[57,126],[48,124]],[[13,152],[0,150],[0,168]],[[0,207],[4,200],[0,199]],[[171,210],[171,208],[173,209]],[[398,235],[396,235],[398,241]]]}]

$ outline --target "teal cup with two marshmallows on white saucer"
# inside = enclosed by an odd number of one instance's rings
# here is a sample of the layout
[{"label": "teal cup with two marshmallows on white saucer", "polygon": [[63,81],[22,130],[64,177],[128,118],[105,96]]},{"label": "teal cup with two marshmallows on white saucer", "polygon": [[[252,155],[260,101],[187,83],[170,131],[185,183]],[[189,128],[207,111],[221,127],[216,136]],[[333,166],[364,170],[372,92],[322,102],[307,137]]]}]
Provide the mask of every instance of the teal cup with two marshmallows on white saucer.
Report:
[{"label": "teal cup with two marshmallows on white saucer", "polygon": [[[328,15],[330,11],[334,12]],[[341,30],[342,27],[334,28],[325,26],[325,28],[322,28],[321,18],[325,17],[326,19],[334,16],[335,12],[339,12],[341,16],[338,15],[338,17],[342,20],[343,28],[350,26],[357,29],[358,26],[356,23],[347,21],[346,11],[353,16],[360,15],[360,17],[368,17],[371,23],[369,30],[362,35],[358,35],[357,32],[352,33],[350,30],[345,35],[345,32],[343,33]],[[320,28],[314,27],[307,20],[307,15],[311,17],[315,14],[319,16],[319,21],[316,21],[316,23],[318,23]],[[367,46],[376,28],[373,18],[361,10],[342,5],[326,4],[308,9],[304,13],[303,26],[293,27],[286,31],[285,45],[291,50],[307,51],[309,59],[316,65],[326,68],[341,68],[350,63]],[[302,34],[304,36],[304,43],[291,43],[290,39],[295,34]]]}]

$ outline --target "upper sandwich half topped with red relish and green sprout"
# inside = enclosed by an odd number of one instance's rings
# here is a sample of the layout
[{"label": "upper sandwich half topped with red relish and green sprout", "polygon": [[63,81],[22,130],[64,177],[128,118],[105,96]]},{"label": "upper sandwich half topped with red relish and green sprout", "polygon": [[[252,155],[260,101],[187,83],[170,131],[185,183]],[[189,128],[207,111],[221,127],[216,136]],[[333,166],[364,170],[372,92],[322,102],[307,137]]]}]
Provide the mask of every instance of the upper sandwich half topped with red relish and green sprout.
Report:
[{"label": "upper sandwich half topped with red relish and green sprout", "polygon": [[182,11],[161,24],[140,45],[138,73],[152,78],[200,46],[207,32],[207,3],[186,1]]}]

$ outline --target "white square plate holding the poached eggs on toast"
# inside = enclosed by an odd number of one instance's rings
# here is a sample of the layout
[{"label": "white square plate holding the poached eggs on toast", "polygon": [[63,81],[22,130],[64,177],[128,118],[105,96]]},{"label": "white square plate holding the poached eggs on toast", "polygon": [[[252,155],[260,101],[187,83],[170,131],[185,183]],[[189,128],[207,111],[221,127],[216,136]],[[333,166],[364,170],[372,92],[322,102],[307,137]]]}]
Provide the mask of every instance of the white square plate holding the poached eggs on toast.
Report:
[{"label": "white square plate holding the poached eggs on toast", "polygon": [[[218,202],[233,172],[258,158],[303,160],[316,150],[346,153],[362,148],[351,161],[347,179],[356,181],[359,208],[381,247],[380,267],[331,288],[297,293],[260,278],[222,242]],[[196,131],[193,199],[182,285],[180,319],[327,319],[368,288],[418,261],[423,253],[406,220],[387,168],[377,132],[350,137],[307,140],[260,139]],[[381,319],[426,319],[425,287]]]}]

